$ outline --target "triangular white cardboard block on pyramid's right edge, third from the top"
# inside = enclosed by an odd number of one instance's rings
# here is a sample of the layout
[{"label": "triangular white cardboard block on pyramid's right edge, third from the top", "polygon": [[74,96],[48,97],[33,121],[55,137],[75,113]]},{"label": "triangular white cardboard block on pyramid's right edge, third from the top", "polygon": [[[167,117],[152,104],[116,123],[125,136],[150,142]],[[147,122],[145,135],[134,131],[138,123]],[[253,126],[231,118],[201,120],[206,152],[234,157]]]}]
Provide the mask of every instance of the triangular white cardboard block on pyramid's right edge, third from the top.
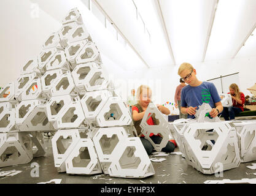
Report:
[{"label": "triangular white cardboard block on pyramid's right edge, third from the top", "polygon": [[87,42],[77,55],[76,62],[77,64],[85,64],[87,62],[101,64],[101,55],[96,45],[91,41]]}]

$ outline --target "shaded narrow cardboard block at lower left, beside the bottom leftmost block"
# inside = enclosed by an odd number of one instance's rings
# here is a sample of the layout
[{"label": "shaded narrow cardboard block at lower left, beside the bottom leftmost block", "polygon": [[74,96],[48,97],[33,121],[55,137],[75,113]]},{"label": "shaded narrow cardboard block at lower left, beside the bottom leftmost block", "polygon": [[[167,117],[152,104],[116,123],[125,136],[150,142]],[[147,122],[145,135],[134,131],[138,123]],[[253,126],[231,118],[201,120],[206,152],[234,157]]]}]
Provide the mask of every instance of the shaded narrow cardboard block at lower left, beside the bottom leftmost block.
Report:
[{"label": "shaded narrow cardboard block at lower left, beside the bottom leftmost block", "polygon": [[44,145],[44,137],[42,132],[30,132],[29,136],[36,147],[34,149],[33,146],[33,158],[34,157],[44,157],[46,154],[45,145]]}]

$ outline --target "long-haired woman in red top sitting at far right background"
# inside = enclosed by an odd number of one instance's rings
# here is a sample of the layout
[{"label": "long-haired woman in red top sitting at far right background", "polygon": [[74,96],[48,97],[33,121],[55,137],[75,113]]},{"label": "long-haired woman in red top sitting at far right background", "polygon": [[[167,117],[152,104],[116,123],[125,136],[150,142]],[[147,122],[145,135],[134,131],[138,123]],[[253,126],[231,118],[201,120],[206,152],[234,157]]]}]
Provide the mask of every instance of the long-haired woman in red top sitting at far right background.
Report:
[{"label": "long-haired woman in red top sitting at far right background", "polygon": [[235,83],[231,84],[228,94],[231,95],[233,107],[224,107],[222,115],[225,121],[235,119],[235,115],[244,111],[245,97],[244,94],[239,91],[238,85]]}]

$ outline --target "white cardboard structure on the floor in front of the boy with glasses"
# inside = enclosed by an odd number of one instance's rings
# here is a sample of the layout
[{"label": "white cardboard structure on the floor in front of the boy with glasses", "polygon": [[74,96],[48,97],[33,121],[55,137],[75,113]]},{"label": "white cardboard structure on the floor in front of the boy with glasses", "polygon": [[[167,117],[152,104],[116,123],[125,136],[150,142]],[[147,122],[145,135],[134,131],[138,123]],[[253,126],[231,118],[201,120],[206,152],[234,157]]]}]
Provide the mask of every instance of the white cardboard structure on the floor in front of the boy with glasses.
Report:
[{"label": "white cardboard structure on the floor in front of the boy with glasses", "polygon": [[200,108],[195,119],[169,123],[188,165],[212,174],[256,160],[256,121],[209,121],[205,114],[211,109],[205,104]]}]

